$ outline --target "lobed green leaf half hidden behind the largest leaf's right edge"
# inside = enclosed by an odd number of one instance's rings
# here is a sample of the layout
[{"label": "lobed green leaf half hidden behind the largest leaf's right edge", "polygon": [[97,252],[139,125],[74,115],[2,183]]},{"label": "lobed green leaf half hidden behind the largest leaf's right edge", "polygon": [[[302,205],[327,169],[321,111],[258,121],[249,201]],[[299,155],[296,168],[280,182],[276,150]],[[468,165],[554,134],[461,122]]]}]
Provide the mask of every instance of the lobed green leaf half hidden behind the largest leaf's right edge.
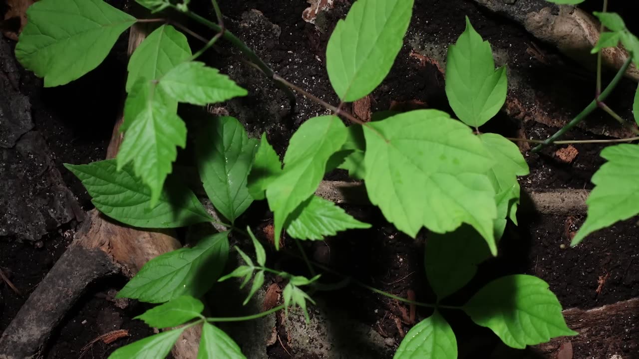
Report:
[{"label": "lobed green leaf half hidden behind the largest leaf's right edge", "polygon": [[517,176],[525,176],[530,172],[528,164],[517,145],[502,135],[481,134],[479,139],[495,158],[495,164],[487,174],[495,188],[497,218],[506,218],[510,214],[516,219],[517,205],[520,202]]}]

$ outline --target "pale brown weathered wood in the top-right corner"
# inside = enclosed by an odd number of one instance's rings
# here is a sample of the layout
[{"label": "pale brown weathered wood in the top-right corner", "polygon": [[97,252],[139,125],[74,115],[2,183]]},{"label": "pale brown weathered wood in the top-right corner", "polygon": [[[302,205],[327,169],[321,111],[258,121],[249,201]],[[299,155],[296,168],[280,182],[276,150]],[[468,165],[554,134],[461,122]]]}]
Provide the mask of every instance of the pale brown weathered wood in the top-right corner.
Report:
[{"label": "pale brown weathered wood in the top-right corner", "polygon": [[[473,0],[491,11],[502,13],[519,22],[526,30],[589,68],[594,68],[596,57],[590,50],[599,40],[599,22],[589,13],[569,5],[556,5],[546,0]],[[602,52],[603,63],[615,69],[629,57],[622,47],[611,47]],[[639,80],[639,69],[630,66],[626,77]]]}]

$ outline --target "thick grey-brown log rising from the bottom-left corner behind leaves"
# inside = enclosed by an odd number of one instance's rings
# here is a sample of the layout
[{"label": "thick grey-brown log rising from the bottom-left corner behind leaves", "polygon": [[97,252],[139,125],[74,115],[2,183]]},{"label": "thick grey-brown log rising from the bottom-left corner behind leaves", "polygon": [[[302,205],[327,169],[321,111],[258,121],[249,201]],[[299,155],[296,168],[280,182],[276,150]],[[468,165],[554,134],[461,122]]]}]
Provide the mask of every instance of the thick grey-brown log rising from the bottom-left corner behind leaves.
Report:
[{"label": "thick grey-brown log rising from the bottom-left corner behind leaves", "polygon": [[[128,54],[146,37],[146,24],[135,24],[129,34]],[[119,116],[107,159],[118,153],[123,135]],[[0,359],[42,358],[51,333],[95,280],[121,271],[132,277],[153,257],[181,247],[171,231],[144,231],[119,224],[97,210],[75,234],[72,244],[31,293],[0,337]],[[173,349],[176,359],[196,358],[200,327],[182,333]],[[185,340],[185,338],[193,340]]]}]

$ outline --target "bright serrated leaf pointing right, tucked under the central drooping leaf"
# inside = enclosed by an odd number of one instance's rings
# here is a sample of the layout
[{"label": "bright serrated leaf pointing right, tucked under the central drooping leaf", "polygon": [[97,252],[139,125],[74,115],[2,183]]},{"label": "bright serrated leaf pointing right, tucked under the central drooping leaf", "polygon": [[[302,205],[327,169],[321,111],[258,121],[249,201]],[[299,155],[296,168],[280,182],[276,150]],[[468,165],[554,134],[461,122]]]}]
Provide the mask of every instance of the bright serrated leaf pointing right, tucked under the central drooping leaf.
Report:
[{"label": "bright serrated leaf pointing right, tucked under the central drooping leaf", "polygon": [[355,228],[370,228],[371,225],[351,217],[335,203],[317,195],[302,202],[291,214],[286,233],[298,240],[323,240],[339,231]]}]

